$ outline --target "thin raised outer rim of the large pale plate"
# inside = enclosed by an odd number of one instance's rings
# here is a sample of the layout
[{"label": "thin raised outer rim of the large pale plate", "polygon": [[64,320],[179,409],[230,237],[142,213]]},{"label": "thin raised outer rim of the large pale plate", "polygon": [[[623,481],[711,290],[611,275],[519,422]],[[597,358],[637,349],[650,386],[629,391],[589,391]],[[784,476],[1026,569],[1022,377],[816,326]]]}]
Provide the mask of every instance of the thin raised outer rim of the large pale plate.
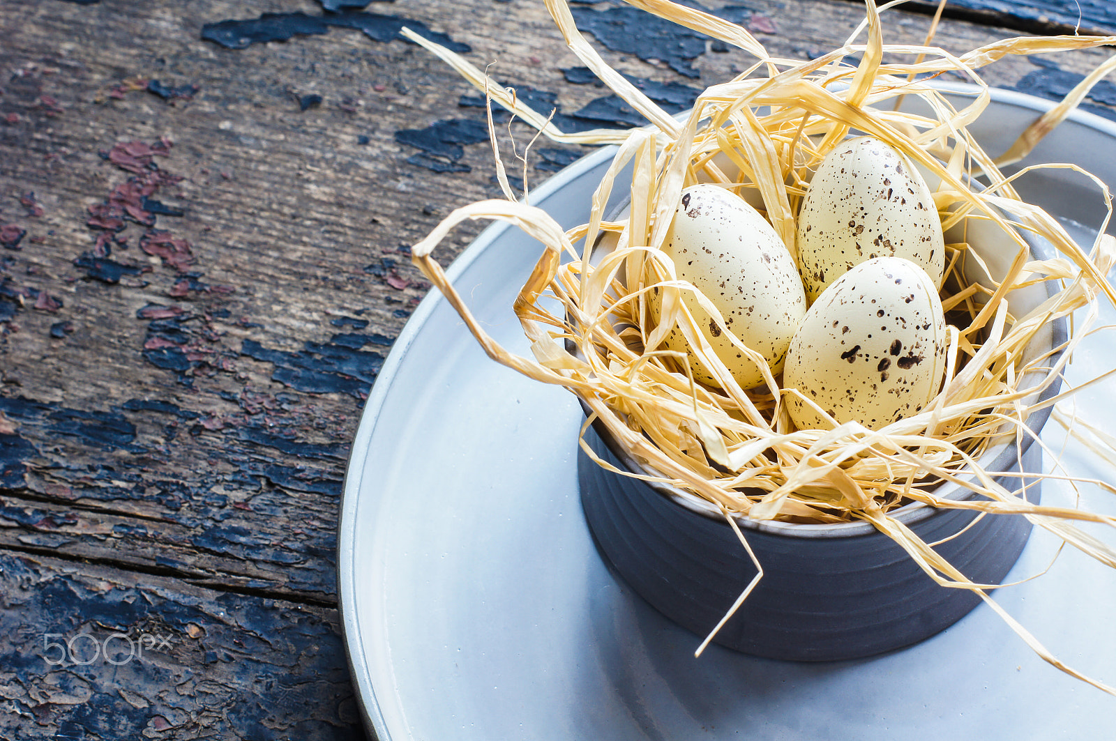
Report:
[{"label": "thin raised outer rim of the large pale plate", "polygon": [[[953,93],[963,96],[977,95],[983,89],[980,86],[968,83],[933,80],[930,84],[942,93]],[[1038,113],[1039,115],[1049,112],[1058,105],[1057,100],[1039,98],[1028,93],[1009,88],[993,87],[989,88],[989,93],[991,103],[1014,106]],[[1116,122],[1080,108],[1075,108],[1070,112],[1065,122],[1081,124],[1116,138]],[[610,161],[616,150],[615,145],[607,145],[578,158],[533,187],[531,193],[535,200],[554,194],[583,175],[586,171]],[[477,239],[446,269],[448,279],[451,282],[455,281],[461,273],[468,270],[488,250],[492,242],[512,228],[512,224],[502,221],[493,222],[484,228],[478,234]],[[395,338],[360,412],[360,421],[357,424],[357,430],[345,463],[345,478],[341,484],[340,502],[338,506],[337,547],[335,551],[337,566],[335,571],[337,579],[337,612],[340,618],[341,639],[345,646],[349,676],[356,690],[356,701],[360,710],[365,730],[371,730],[376,741],[396,741],[396,737],[387,728],[379,701],[376,696],[376,689],[372,685],[372,675],[368,671],[369,664],[364,647],[360,645],[357,625],[358,618],[354,606],[356,603],[356,580],[354,579],[352,564],[355,554],[356,535],[354,518],[357,498],[360,494],[359,471],[363,470],[357,466],[363,463],[368,454],[373,433],[379,423],[379,410],[383,407],[385,400],[395,384],[398,366],[407,355],[411,345],[426,327],[435,309],[445,300],[445,297],[441,292],[429,291],[419,302],[419,306],[415,307],[415,310]]]}]

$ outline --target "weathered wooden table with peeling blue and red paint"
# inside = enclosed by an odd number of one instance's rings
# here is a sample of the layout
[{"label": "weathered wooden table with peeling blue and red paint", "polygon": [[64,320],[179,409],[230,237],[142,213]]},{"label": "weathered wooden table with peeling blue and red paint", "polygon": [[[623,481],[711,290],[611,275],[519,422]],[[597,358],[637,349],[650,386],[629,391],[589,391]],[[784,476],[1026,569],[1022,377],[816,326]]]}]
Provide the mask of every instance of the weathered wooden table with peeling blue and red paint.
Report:
[{"label": "weathered wooden table with peeling blue and red paint", "polygon": [[[798,58],[863,16],[703,1]],[[0,738],[363,735],[334,576],[348,444],[427,289],[408,246],[499,194],[483,104],[397,30],[494,62],[564,128],[638,122],[537,0],[362,4],[0,3]],[[888,40],[921,42],[933,4]],[[1116,31],[1112,3],[1080,9],[963,0],[937,42]],[[575,12],[673,110],[748,64],[619,2]],[[1059,97],[1107,54],[987,78]],[[1087,103],[1116,117],[1112,84]],[[535,182],[585,153],[536,151]]]}]

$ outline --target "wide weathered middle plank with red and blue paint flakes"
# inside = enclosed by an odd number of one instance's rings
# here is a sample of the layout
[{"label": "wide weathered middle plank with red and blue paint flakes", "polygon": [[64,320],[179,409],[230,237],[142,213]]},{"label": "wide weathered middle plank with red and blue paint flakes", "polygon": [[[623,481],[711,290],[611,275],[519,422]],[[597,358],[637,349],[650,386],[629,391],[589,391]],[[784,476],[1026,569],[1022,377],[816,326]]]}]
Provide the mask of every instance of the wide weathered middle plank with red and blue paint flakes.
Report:
[{"label": "wide weathered middle plank with red and blue paint flakes", "polygon": [[[744,22],[775,31],[761,35],[773,52],[800,58],[839,44],[859,19],[844,2],[752,4]],[[483,113],[460,107],[469,87],[402,41],[334,28],[225,49],[201,40],[201,27],[243,18],[243,8],[191,8],[26,2],[0,17],[11,39],[0,62],[12,73],[0,114],[16,117],[0,125],[9,163],[0,216],[27,230],[2,263],[22,305],[0,298],[13,311],[0,340],[0,411],[11,427],[15,508],[0,542],[328,600],[360,400],[426,288],[405,246],[452,208],[497,193],[485,143],[442,160],[469,172],[437,173],[408,163],[417,151],[395,135],[443,119],[480,124]],[[508,81],[555,94],[561,113],[599,97],[565,81],[561,70],[578,62],[541,8],[514,8],[529,44],[497,22],[507,6],[496,2],[473,3],[481,22],[451,36],[478,64],[498,58]],[[461,17],[446,9],[407,12],[444,30],[440,18]],[[924,17],[892,20],[892,40],[925,33]],[[965,50],[1006,35],[952,22],[942,39]],[[704,52],[693,80],[664,61],[603,52],[629,74],[694,89],[748,64]],[[1098,58],[1065,56],[1065,67],[1084,71]],[[989,77],[1012,84],[1033,71],[1011,60]],[[136,78],[198,90],[167,102],[128,89]],[[310,94],[323,103],[302,110],[299,97]],[[160,137],[171,142],[165,156],[141,158],[183,180],[161,182],[151,198],[183,215],[158,214],[155,228],[189,243],[189,254],[166,240],[145,253],[147,229],[128,221],[117,235],[126,247],[110,244],[105,258],[117,264],[90,267],[98,237],[112,232],[87,225],[89,206],[136,176],[99,153]],[[35,209],[19,199],[28,193],[41,215],[27,215]],[[444,259],[475,229],[455,235]],[[107,282],[113,269],[123,272]],[[39,511],[54,519],[35,520]]]}]

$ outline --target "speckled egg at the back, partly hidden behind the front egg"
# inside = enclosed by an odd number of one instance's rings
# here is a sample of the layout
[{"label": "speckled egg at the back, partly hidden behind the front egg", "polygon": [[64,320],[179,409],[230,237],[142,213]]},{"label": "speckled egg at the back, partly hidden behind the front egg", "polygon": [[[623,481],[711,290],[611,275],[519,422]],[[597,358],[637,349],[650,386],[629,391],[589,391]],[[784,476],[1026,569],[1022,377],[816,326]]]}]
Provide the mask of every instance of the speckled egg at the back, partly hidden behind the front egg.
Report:
[{"label": "speckled egg at the back, partly hidden behind the front egg", "polygon": [[945,244],[933,195],[911,162],[877,138],[852,138],[826,155],[797,227],[798,270],[811,302],[876,257],[906,258],[942,285]]}]

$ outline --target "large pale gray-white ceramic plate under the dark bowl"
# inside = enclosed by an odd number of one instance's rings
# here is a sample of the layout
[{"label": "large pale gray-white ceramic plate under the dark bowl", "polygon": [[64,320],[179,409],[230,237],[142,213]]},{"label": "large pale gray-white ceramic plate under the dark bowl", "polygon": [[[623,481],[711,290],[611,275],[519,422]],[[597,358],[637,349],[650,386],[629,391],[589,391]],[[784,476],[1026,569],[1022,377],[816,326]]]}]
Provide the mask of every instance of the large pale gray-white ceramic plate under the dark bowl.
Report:
[{"label": "large pale gray-white ceramic plate under the dark bowl", "polygon": [[[1050,105],[997,92],[972,131],[998,153]],[[532,202],[566,227],[584,222],[610,156],[575,163]],[[1076,114],[1032,160],[1076,162],[1116,183],[1116,126]],[[1104,214],[1070,171],[1019,189],[1083,224],[1070,227],[1085,243]],[[539,250],[498,225],[450,271],[488,330],[523,355],[511,302]],[[1078,353],[1070,381],[1116,366],[1105,345]],[[1109,430],[1114,403],[1112,384],[1079,396]],[[632,594],[594,548],[578,501],[579,423],[568,392],[488,359],[439,296],[400,335],[353,443],[338,538],[353,677],[379,741],[1113,737],[1116,700],[1043,663],[987,606],[868,660],[783,663],[719,646],[694,658],[699,637]],[[1060,445],[1059,432],[1048,426],[1048,444]],[[1113,480],[1072,450],[1064,460]],[[1068,489],[1048,484],[1045,497]],[[1054,551],[1036,533],[1009,580]],[[1059,658],[1116,684],[1116,574],[1067,549],[1051,572],[998,599]]]}]

